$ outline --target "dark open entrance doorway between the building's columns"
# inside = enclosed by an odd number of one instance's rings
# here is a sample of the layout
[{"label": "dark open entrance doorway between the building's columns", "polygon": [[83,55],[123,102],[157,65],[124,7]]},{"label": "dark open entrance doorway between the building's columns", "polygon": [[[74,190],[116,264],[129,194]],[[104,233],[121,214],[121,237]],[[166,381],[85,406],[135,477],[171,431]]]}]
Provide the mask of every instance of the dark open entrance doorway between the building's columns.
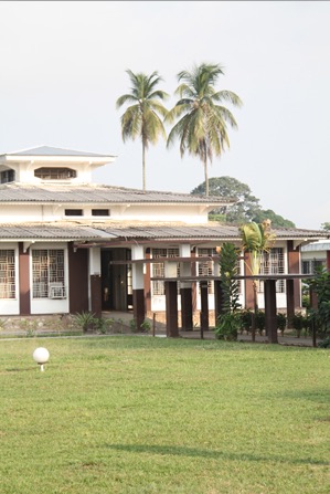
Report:
[{"label": "dark open entrance doorway between the building's columns", "polygon": [[[102,309],[128,311],[132,308],[131,252],[129,249],[102,249]],[[123,261],[123,264],[113,264]]]}]

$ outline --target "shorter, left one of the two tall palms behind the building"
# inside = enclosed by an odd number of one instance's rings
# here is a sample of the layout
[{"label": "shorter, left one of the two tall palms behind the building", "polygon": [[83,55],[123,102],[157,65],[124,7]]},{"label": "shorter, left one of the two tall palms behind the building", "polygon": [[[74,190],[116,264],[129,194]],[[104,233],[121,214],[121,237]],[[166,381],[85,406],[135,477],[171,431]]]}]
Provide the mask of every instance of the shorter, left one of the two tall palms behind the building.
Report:
[{"label": "shorter, left one of the two tall palms behind the building", "polygon": [[124,143],[129,138],[141,138],[142,188],[146,192],[146,149],[150,143],[156,144],[159,136],[167,138],[162,119],[158,114],[162,118],[167,116],[168,111],[160,101],[166,99],[168,94],[156,90],[156,86],[162,81],[157,72],[152,72],[151,75],[134,74],[129,70],[126,72],[131,82],[131,93],[120,96],[116,102],[116,107],[120,108],[125,103],[132,103],[121,116],[121,137]]}]

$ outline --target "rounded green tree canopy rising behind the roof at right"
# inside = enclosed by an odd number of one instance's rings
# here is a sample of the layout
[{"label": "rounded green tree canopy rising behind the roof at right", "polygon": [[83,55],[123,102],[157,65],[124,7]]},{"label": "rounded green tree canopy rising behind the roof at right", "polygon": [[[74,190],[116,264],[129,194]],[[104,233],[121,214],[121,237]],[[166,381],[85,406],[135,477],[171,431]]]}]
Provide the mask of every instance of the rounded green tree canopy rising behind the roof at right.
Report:
[{"label": "rounded green tree canopy rising behind the roof at right", "polygon": [[[205,182],[195,187],[191,193],[203,195],[205,191]],[[263,223],[269,219],[273,227],[295,228],[295,223],[276,214],[273,210],[264,210],[259,204],[251,188],[233,177],[213,177],[209,179],[210,196],[223,198],[235,198],[237,202],[230,207],[213,210],[210,219],[219,219],[227,223],[243,224],[248,221]]]}]

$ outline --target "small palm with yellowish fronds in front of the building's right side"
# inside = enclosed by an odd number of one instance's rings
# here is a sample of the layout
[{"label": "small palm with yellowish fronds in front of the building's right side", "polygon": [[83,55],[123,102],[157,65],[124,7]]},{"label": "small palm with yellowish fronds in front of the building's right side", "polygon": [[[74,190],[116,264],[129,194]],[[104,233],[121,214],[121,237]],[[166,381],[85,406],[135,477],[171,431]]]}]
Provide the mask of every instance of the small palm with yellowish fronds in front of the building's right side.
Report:
[{"label": "small palm with yellowish fronds in front of the building's right side", "polygon": [[[260,265],[264,254],[268,254],[275,243],[276,235],[272,232],[270,220],[263,223],[251,221],[239,227],[242,250],[248,254],[249,263],[246,266],[253,276],[260,273]],[[254,318],[252,324],[252,340],[255,341],[255,317],[258,311],[257,282],[253,280],[254,294]]]}]

